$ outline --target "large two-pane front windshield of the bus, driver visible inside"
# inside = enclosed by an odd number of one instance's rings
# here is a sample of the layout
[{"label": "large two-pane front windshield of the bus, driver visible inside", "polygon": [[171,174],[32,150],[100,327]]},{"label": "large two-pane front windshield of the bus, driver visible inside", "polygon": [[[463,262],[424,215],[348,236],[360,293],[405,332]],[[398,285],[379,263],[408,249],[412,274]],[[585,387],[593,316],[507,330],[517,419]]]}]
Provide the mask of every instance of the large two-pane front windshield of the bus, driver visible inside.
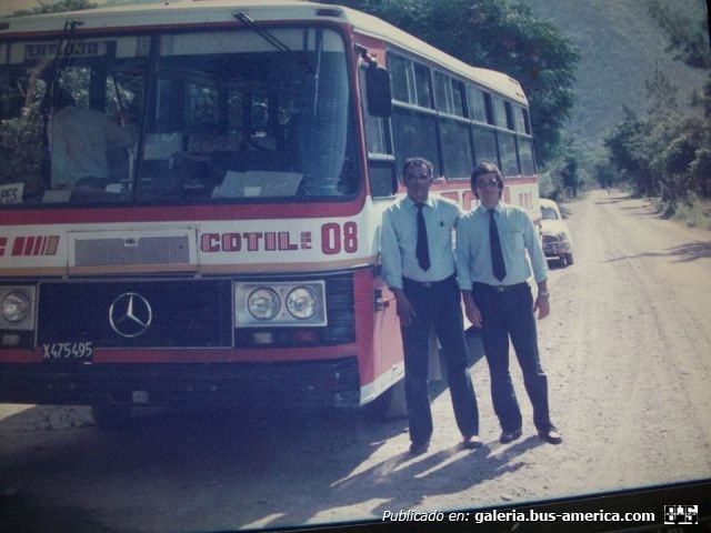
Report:
[{"label": "large two-pane front windshield of the bus, driver visible inside", "polygon": [[0,205],[343,199],[342,39],[320,28],[0,43]]}]

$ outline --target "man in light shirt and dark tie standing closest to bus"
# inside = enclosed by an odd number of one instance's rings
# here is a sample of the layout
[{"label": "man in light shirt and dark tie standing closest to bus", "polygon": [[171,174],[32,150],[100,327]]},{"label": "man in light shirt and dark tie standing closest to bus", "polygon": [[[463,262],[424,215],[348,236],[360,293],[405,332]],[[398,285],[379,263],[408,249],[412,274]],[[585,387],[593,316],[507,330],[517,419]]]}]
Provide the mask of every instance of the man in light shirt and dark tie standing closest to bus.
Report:
[{"label": "man in light shirt and dark tie standing closest to bus", "polygon": [[429,333],[434,325],[447,361],[457,424],[468,449],[479,447],[479,411],[467,369],[461,294],[454,274],[452,230],[462,211],[429,193],[432,163],[410,159],[403,169],[408,195],[382,220],[382,273],[395,295],[404,348],[410,452],[429,449],[432,413],[428,385]]}]

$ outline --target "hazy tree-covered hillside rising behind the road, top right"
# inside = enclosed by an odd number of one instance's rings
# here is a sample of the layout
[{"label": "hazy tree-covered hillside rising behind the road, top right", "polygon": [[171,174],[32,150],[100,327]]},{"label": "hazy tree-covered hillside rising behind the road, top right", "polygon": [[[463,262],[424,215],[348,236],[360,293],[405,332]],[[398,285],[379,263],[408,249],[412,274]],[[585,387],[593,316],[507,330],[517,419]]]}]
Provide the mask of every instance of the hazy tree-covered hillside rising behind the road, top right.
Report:
[{"label": "hazy tree-covered hillside rising behind the road, top right", "polygon": [[[665,51],[667,36],[649,16],[645,0],[520,1],[554,22],[580,49],[578,99],[569,128],[583,142],[599,142],[620,121],[624,107],[644,109],[644,82],[655,68],[677,84],[680,104],[708,80],[708,72],[690,69]],[[692,20],[708,20],[704,0],[667,1]]]}]

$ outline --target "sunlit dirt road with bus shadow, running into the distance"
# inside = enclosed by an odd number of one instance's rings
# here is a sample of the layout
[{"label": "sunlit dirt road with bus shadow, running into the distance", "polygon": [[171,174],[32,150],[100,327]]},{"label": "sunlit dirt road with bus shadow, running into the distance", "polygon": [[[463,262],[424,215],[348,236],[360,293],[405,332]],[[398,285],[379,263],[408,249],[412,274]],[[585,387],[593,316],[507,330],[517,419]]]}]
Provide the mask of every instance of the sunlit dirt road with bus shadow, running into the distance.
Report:
[{"label": "sunlit dirt road with bus shadow, running into the distance", "polygon": [[622,193],[567,208],[575,264],[552,265],[539,331],[562,445],[535,436],[518,373],[527,426],[499,444],[483,361],[487,445],[459,446],[444,392],[419,457],[403,421],[362,413],[149,412],[99,431],[84,409],[0,406],[0,529],[274,529],[711,477],[711,234]]}]

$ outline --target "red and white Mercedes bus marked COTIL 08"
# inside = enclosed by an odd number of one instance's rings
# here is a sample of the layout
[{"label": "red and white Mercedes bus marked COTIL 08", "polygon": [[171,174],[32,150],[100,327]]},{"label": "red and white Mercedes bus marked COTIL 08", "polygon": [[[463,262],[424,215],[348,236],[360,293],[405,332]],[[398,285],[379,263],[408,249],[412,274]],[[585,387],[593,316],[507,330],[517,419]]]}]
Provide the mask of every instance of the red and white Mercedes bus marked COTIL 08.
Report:
[{"label": "red and white Mercedes bus marked COTIL 08", "polygon": [[[59,175],[60,93],[138,127],[81,152],[108,175]],[[379,225],[409,157],[465,209],[474,161],[497,162],[540,217],[518,82],[336,6],[8,18],[0,119],[0,401],[92,405],[104,424],[137,405],[387,398],[403,364]]]}]

